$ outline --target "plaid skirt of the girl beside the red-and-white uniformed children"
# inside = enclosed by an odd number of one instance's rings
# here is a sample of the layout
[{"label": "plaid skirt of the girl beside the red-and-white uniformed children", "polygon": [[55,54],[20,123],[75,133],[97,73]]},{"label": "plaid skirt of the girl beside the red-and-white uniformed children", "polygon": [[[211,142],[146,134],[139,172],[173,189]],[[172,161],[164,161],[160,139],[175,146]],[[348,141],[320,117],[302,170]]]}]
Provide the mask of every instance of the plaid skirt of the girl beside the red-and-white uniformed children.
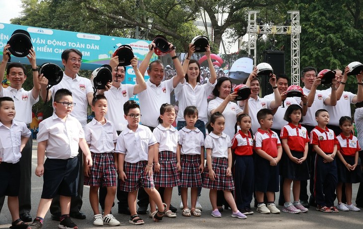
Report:
[{"label": "plaid skirt of the girl beside the red-and-white uniformed children", "polygon": [[225,157],[212,156],[212,169],[216,175],[214,181],[209,179],[208,164],[205,166],[203,188],[216,190],[234,190],[233,176],[226,176],[228,159]]}]

